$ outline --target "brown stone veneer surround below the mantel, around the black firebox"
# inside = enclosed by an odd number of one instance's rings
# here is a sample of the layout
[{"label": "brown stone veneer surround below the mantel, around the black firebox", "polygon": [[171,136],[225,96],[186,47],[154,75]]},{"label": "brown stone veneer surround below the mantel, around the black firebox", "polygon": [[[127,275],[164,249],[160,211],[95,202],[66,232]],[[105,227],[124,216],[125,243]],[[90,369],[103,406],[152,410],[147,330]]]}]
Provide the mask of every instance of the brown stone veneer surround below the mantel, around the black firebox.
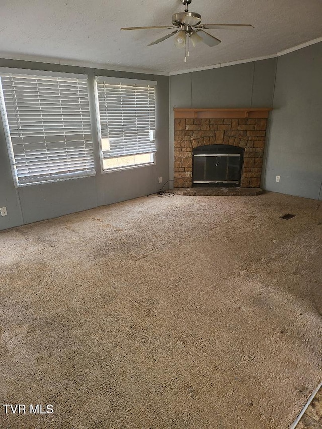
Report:
[{"label": "brown stone veneer surround below the mantel, around the black firebox", "polygon": [[258,188],[261,181],[266,126],[266,118],[176,118],[174,187],[192,186],[193,148],[227,144],[244,148],[240,186]]}]

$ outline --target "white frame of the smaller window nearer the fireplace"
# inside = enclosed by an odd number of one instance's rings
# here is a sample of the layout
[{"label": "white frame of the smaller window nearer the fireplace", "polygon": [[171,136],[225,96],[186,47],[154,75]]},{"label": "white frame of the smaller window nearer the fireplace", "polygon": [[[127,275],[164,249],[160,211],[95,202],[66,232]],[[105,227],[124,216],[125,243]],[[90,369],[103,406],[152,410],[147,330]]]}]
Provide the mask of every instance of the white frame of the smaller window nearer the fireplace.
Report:
[{"label": "white frame of the smaller window nearer the fireplace", "polygon": [[[150,86],[154,87],[154,106],[155,106],[155,128],[156,128],[156,106],[157,106],[157,95],[156,95],[156,87],[157,87],[157,81],[155,80],[142,80],[142,79],[128,79],[128,78],[118,78],[118,77],[109,77],[109,76],[102,76],[102,75],[95,75],[94,76],[94,96],[95,96],[95,112],[96,112],[96,128],[97,128],[97,136],[98,136],[98,143],[99,143],[99,157],[100,157],[100,165],[101,165],[101,173],[112,173],[113,171],[123,171],[123,170],[130,170],[134,168],[141,168],[141,167],[150,167],[156,165],[156,153],[155,152],[147,152],[151,153],[153,155],[153,161],[144,163],[144,164],[131,164],[126,165],[122,167],[115,167],[115,168],[106,168],[104,169],[104,157],[103,157],[103,149],[102,149],[102,133],[101,133],[101,118],[100,118],[100,107],[99,107],[99,96],[98,96],[98,88],[97,83],[98,81],[104,81],[106,83],[110,84],[124,84],[124,85],[140,85],[140,86]],[[154,130],[154,135],[156,134],[156,129]],[[154,138],[155,145],[156,145],[156,137]],[[139,153],[137,154],[139,155]],[[119,159],[125,156],[131,156],[131,155],[123,155],[119,157],[115,157],[114,159]],[[133,155],[135,156],[135,154]],[[111,159],[113,159],[111,157]]]}]

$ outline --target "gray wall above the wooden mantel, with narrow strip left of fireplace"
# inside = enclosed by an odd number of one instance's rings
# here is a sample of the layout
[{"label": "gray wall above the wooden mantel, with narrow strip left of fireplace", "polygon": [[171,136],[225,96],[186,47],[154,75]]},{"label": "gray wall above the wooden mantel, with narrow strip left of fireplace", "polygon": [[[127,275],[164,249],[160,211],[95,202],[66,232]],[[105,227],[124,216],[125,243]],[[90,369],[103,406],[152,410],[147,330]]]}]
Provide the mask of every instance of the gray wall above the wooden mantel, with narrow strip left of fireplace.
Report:
[{"label": "gray wall above the wooden mantel, with narrow strip left of fireplace", "polygon": [[272,107],[276,61],[272,58],[170,77],[170,180],[174,107]]}]

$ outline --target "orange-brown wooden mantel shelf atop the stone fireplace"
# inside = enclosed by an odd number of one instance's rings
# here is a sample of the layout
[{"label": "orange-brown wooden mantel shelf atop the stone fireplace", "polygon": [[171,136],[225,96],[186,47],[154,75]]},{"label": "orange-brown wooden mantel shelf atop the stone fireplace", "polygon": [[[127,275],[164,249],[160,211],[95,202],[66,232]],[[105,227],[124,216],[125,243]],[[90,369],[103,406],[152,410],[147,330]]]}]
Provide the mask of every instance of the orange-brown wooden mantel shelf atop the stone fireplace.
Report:
[{"label": "orange-brown wooden mantel shelf atop the stone fireplace", "polygon": [[185,109],[174,108],[175,119],[195,119],[195,118],[268,118],[269,112],[273,110],[270,107],[261,108],[237,108],[237,109]]}]

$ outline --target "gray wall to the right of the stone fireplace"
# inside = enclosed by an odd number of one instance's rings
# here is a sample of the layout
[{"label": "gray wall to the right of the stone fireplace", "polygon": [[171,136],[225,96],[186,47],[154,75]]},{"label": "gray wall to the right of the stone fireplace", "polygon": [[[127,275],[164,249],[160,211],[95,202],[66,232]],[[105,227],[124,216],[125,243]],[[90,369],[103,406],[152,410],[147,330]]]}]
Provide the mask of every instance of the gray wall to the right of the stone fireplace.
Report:
[{"label": "gray wall to the right of the stone fireplace", "polygon": [[267,190],[322,199],[321,76],[322,43],[278,58],[267,142]]}]

